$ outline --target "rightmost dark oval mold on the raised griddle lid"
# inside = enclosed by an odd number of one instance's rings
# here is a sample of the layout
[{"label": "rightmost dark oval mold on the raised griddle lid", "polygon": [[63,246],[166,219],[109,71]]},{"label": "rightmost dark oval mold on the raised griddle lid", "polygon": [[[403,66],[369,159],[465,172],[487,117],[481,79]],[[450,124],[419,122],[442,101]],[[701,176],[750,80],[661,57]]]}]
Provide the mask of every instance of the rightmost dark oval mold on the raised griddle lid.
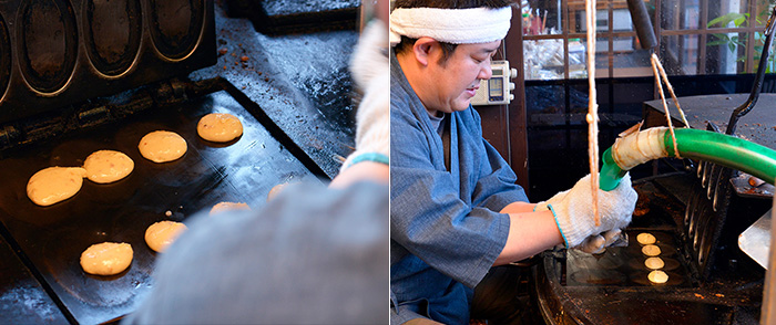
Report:
[{"label": "rightmost dark oval mold on the raised griddle lid", "polygon": [[151,39],[165,61],[194,53],[205,25],[204,0],[149,0],[146,8]]}]

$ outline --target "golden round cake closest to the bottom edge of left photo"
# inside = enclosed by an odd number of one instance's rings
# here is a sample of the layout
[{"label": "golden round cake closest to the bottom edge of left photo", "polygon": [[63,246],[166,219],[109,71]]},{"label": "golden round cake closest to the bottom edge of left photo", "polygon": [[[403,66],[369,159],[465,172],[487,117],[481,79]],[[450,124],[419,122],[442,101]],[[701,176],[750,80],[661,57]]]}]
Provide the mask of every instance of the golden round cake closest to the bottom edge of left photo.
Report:
[{"label": "golden round cake closest to the bottom edge of left photo", "polygon": [[89,274],[119,274],[126,270],[131,263],[132,245],[123,242],[93,244],[81,253],[81,268]]}]

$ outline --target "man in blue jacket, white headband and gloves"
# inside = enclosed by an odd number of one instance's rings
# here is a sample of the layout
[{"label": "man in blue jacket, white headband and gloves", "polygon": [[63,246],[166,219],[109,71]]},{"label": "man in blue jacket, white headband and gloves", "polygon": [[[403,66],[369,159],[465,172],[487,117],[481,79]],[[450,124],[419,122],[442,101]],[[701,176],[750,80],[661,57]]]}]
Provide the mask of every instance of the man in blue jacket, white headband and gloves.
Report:
[{"label": "man in blue jacket, white headband and gloves", "polygon": [[[528,202],[517,176],[482,138],[470,99],[491,76],[510,28],[509,0],[397,0],[390,14],[391,324],[520,324],[508,268],[563,244],[599,252],[631,221],[625,176],[599,192],[590,176]],[[535,210],[535,211],[534,211]]]}]

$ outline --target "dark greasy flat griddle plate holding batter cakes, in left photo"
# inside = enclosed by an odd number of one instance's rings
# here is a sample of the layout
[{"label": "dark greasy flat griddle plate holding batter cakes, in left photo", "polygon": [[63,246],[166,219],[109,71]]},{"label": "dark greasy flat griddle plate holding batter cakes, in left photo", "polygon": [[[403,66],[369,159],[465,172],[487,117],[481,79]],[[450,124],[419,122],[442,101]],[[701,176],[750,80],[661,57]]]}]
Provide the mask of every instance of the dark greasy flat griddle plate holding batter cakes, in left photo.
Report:
[{"label": "dark greasy flat griddle plate holding batter cakes, in left photo", "polygon": [[[79,323],[120,317],[147,293],[157,253],[143,237],[152,223],[185,221],[221,201],[248,202],[255,210],[279,182],[318,181],[226,92],[152,111],[0,160],[0,221]],[[237,116],[243,136],[227,145],[202,140],[196,124],[214,112]],[[159,129],[186,139],[188,150],[181,159],[155,164],[140,155],[141,137]],[[50,207],[29,200],[25,187],[34,172],[51,166],[81,166],[86,156],[100,149],[126,154],[135,162],[134,171],[110,185],[84,179],[79,193]],[[172,216],[165,216],[166,211]],[[79,259],[83,250],[103,241],[132,244],[134,260],[129,270],[113,276],[82,271]]]}]

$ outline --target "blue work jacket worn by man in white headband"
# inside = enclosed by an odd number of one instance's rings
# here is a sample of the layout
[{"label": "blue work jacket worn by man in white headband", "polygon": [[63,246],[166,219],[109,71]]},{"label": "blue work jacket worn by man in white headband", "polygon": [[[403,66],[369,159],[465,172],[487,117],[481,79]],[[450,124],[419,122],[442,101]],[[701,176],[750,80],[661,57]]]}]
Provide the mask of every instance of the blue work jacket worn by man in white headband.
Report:
[{"label": "blue work jacket worn by man in white headband", "polygon": [[468,324],[473,287],[509,234],[509,216],[498,211],[528,198],[471,106],[446,116],[448,171],[442,138],[395,53],[390,82],[391,324]]}]

